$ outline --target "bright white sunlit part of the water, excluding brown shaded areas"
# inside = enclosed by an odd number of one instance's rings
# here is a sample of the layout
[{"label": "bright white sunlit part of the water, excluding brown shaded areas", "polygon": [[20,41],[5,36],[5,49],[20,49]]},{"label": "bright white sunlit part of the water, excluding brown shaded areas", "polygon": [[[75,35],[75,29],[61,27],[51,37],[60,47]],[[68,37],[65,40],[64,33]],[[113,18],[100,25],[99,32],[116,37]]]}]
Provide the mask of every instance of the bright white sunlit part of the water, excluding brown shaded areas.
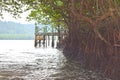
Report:
[{"label": "bright white sunlit part of the water, excluding brown shaded areas", "polygon": [[[33,40],[2,40],[0,41],[0,76],[9,79],[24,76],[28,80],[29,78],[41,80],[41,77],[45,78],[51,73],[48,68],[57,68],[62,65],[59,55],[60,51],[50,47],[34,48]],[[14,74],[10,75],[10,73]],[[22,73],[27,76],[19,76]]]}]

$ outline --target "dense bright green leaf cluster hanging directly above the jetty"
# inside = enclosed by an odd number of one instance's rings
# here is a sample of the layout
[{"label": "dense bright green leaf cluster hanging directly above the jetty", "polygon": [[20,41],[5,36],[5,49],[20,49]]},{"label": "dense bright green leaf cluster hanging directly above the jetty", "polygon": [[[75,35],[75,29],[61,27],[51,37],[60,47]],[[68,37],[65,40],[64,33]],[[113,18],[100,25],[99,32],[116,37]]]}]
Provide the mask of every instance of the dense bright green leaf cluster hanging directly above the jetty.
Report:
[{"label": "dense bright green leaf cluster hanging directly above the jetty", "polygon": [[60,7],[63,5],[62,1],[40,1],[34,10],[31,11],[29,15],[29,20],[36,20],[38,23],[43,24],[60,24],[60,20],[63,19],[62,15],[60,14],[62,11],[61,9],[55,9],[56,7]]}]

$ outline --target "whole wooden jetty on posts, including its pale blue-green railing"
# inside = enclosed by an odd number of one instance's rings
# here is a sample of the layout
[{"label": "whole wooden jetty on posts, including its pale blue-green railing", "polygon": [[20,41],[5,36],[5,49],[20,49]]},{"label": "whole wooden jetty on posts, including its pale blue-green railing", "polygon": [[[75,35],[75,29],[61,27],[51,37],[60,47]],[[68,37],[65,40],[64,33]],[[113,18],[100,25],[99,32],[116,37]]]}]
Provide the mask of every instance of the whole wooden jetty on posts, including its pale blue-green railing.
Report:
[{"label": "whole wooden jetty on posts, including its pale blue-green railing", "polygon": [[[49,28],[50,30],[47,29],[47,27],[44,27],[40,32],[39,28],[35,26],[35,47],[47,47],[51,46],[54,47],[55,44],[57,44],[56,47],[59,47],[63,43],[63,39],[65,37],[64,31],[60,29],[58,26],[57,30],[54,30],[54,28]],[[51,30],[52,29],[52,30]],[[57,37],[57,41],[56,41]],[[56,43],[57,42],[57,43]]]}]

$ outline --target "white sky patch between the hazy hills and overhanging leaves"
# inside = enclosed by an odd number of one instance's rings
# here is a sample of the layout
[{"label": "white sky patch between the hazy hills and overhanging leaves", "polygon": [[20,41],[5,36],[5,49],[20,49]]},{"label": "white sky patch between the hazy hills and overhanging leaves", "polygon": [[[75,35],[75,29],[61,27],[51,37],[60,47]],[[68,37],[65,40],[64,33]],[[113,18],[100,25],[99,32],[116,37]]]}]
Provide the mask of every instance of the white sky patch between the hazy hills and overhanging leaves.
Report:
[{"label": "white sky patch between the hazy hills and overhanging leaves", "polygon": [[0,19],[0,20],[2,20],[2,21],[13,21],[13,22],[22,23],[22,24],[29,24],[29,23],[33,23],[34,24],[34,22],[26,21],[27,15],[28,15],[28,12],[24,12],[23,14],[21,14],[21,18],[15,19],[9,13],[4,12],[3,13],[4,19]]}]

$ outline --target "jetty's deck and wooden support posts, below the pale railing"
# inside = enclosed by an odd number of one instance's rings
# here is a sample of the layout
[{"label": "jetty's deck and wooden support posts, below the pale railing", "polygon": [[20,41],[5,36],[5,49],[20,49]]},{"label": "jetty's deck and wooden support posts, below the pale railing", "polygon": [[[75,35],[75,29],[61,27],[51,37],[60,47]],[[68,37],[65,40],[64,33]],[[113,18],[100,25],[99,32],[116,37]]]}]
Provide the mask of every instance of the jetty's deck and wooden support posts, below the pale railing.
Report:
[{"label": "jetty's deck and wooden support posts, below the pale railing", "polygon": [[58,37],[58,40],[57,40],[57,43],[56,43],[57,46],[58,46],[63,41],[64,34],[58,34],[58,33],[41,33],[41,34],[37,34],[37,35],[35,35],[35,47],[41,47],[41,46],[47,47],[47,46],[50,46],[50,44],[51,44],[51,47],[54,47],[55,42],[56,42],[55,37]]}]

